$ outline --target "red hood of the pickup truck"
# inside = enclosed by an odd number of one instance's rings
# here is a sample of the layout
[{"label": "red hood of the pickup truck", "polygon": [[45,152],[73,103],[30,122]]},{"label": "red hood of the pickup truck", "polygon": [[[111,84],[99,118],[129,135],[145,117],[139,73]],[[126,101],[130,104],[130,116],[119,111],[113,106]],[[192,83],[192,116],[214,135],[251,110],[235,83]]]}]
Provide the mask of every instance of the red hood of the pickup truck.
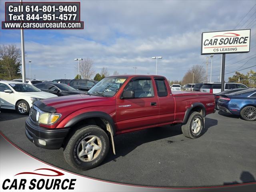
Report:
[{"label": "red hood of the pickup truck", "polygon": [[57,112],[61,112],[62,110],[79,110],[86,107],[112,105],[112,102],[108,102],[108,100],[114,99],[110,97],[76,94],[44,99],[42,102],[47,106],[54,107]]}]

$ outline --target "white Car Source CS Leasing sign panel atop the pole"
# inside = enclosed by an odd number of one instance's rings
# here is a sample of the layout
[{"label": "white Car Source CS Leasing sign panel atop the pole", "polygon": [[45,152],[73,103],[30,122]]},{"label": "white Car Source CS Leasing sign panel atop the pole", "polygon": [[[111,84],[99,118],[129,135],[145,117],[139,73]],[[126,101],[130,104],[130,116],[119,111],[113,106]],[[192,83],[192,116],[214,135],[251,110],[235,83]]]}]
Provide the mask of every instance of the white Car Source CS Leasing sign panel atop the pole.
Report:
[{"label": "white Car Source CS Leasing sign panel atop the pole", "polygon": [[250,29],[203,32],[201,55],[247,53],[250,51]]}]

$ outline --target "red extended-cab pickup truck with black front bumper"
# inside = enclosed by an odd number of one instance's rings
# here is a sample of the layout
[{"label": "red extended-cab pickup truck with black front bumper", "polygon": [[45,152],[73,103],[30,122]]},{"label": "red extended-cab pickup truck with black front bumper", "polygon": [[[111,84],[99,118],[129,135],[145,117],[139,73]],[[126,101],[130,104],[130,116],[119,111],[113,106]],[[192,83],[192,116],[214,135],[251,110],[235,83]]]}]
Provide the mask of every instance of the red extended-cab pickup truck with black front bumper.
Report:
[{"label": "red extended-cab pickup truck with black front bumper", "polygon": [[171,92],[163,76],[110,76],[86,94],[34,102],[26,136],[41,148],[63,147],[71,166],[87,170],[98,166],[110,147],[115,154],[118,134],[180,123],[186,137],[200,137],[214,106],[213,94]]}]

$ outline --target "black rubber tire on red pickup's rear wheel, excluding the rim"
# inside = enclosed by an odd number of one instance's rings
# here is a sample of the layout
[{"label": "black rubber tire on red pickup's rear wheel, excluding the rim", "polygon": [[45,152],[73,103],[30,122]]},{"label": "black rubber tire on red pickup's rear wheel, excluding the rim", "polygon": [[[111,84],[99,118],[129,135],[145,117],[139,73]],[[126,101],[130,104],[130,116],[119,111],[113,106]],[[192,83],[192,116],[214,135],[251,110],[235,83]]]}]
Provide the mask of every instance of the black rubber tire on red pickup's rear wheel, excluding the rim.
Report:
[{"label": "black rubber tire on red pickup's rear wheel, excluding the rim", "polygon": [[[198,121],[200,120],[200,128],[199,128],[199,124],[198,124],[198,130],[193,132],[193,122],[194,120],[197,120]],[[182,130],[182,133],[184,134],[184,136],[188,137],[188,138],[192,138],[192,139],[195,139],[195,138],[198,138],[200,137],[202,134],[203,134],[203,131],[204,131],[204,118],[202,116],[202,114],[198,113],[198,112],[192,112],[188,118],[188,121],[186,124],[183,124],[181,126],[181,130]]]}]

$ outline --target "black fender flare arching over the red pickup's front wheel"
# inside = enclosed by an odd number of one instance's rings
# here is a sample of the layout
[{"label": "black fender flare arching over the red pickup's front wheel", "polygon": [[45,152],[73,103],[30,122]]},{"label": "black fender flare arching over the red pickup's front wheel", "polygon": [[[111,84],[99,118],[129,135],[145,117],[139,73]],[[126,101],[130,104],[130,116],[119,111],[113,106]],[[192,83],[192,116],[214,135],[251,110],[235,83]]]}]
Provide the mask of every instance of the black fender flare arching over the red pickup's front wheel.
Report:
[{"label": "black fender flare arching over the red pickup's front wheel", "polygon": [[112,119],[112,117],[109,114],[106,114],[106,113],[101,112],[101,111],[93,111],[93,112],[82,113],[82,114],[74,117],[73,119],[71,119],[69,122],[67,122],[67,124],[64,127],[65,128],[66,127],[71,127],[71,126],[75,125],[76,123],[80,122],[81,120],[88,119],[88,118],[103,118],[103,119],[107,120],[110,124],[108,129],[110,129],[111,134],[113,136],[115,136],[116,129],[115,129],[114,120]]}]

